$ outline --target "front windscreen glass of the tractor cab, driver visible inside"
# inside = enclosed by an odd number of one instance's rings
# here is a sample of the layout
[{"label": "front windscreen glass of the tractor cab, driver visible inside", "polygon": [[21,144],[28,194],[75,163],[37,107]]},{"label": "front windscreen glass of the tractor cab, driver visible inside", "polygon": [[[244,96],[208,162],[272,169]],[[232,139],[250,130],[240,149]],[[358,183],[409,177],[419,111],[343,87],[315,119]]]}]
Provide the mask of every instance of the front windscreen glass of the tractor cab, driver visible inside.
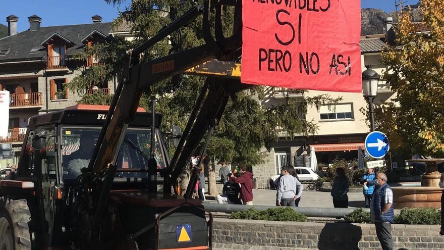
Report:
[{"label": "front windscreen glass of the tractor cab, driver visible inside", "polygon": [[[94,146],[99,136],[99,128],[63,128],[62,155],[64,179],[76,179],[81,169],[89,165]],[[128,129],[117,158],[117,168],[145,169],[150,157],[150,137],[148,129]],[[157,168],[165,167],[165,160],[160,143],[155,138],[155,159]],[[115,181],[128,178],[147,178],[147,173],[118,172]]]}]

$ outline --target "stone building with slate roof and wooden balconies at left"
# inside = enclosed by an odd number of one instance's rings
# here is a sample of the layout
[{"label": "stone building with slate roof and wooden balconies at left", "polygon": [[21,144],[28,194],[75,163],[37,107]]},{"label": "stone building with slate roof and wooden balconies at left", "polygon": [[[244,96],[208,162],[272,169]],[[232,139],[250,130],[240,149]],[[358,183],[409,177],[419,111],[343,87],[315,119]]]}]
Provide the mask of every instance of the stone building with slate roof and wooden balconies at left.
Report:
[{"label": "stone building with slate roof and wooden balconies at left", "polygon": [[91,83],[80,94],[65,84],[84,69],[101,65],[98,57],[81,60],[76,54],[112,39],[112,23],[96,15],[90,24],[42,27],[42,19],[33,15],[28,17],[29,29],[17,32],[19,18],[6,20],[8,36],[0,39],[0,86],[10,92],[10,110],[8,136],[1,143],[12,143],[17,158],[31,116],[76,105],[93,91],[114,93],[115,81]]}]

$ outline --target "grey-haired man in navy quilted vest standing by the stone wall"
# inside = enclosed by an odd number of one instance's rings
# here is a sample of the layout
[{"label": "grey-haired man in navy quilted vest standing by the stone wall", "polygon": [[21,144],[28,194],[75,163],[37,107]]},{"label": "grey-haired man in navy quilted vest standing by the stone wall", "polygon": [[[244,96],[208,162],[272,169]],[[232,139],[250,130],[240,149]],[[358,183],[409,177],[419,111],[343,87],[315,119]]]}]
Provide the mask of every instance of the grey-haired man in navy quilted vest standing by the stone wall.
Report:
[{"label": "grey-haired man in navy quilted vest standing by the stone wall", "polygon": [[392,225],[395,217],[393,212],[393,192],[387,184],[387,176],[383,173],[376,175],[378,185],[373,191],[370,202],[371,220],[376,227],[376,235],[383,250],[393,249]]}]

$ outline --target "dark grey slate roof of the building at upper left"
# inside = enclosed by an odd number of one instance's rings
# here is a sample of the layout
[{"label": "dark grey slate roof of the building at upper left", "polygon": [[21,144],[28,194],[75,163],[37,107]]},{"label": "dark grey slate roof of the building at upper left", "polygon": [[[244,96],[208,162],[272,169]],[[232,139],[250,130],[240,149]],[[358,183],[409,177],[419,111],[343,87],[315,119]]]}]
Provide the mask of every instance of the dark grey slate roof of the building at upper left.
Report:
[{"label": "dark grey slate roof of the building at upper left", "polygon": [[[102,34],[108,35],[112,23],[90,23],[65,26],[40,27],[37,31],[23,31],[13,36],[7,36],[0,39],[0,51],[9,49],[5,56],[0,56],[1,61],[21,61],[21,60],[38,60],[47,56],[47,49],[40,45],[50,36],[58,34],[75,45],[68,48],[67,56],[72,56],[83,50],[85,46],[82,43],[88,34],[94,30]],[[32,53],[30,53],[33,51]],[[1,54],[0,54],[1,55]]]}]

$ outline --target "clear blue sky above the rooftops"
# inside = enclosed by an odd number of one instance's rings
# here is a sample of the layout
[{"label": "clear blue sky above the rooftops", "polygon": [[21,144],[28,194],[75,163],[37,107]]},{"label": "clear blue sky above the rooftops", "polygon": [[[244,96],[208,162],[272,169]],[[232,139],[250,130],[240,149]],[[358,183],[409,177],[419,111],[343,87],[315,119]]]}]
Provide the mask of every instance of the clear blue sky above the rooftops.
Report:
[{"label": "clear blue sky above the rooftops", "polygon": [[[417,0],[404,2],[416,4]],[[131,0],[126,0],[120,6],[113,6],[104,0],[0,0],[0,23],[8,26],[6,17],[18,16],[20,32],[29,28],[28,17],[34,14],[42,18],[41,26],[91,23],[94,15],[101,16],[103,22],[111,22],[118,16],[119,9],[125,10],[130,3]],[[361,0],[361,7],[391,12],[395,10],[395,0]]]}]

